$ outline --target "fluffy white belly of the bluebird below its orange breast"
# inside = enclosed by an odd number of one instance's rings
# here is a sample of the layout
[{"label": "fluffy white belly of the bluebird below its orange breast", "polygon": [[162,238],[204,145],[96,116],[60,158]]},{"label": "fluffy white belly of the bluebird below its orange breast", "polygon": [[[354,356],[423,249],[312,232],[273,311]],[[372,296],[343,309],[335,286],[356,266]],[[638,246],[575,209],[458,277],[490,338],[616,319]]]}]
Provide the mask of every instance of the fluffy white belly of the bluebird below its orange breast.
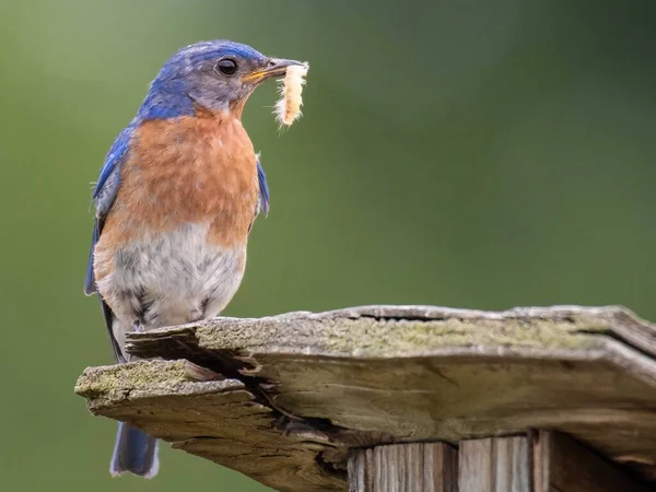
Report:
[{"label": "fluffy white belly of the bluebird below its orange breast", "polygon": [[96,265],[113,265],[98,291],[125,326],[120,331],[213,317],[227,305],[242,282],[246,245],[226,249],[208,244],[207,235],[206,224],[185,224],[98,251]]}]

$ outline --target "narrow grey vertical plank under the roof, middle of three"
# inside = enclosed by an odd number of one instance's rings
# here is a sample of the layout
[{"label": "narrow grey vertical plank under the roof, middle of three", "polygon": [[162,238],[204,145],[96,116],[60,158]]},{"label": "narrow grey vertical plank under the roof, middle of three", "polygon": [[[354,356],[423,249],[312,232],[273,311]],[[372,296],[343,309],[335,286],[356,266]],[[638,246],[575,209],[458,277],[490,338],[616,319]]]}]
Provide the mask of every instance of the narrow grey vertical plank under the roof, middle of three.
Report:
[{"label": "narrow grey vertical plank under the roof, middle of three", "polygon": [[531,453],[526,436],[462,441],[459,492],[531,492]]}]

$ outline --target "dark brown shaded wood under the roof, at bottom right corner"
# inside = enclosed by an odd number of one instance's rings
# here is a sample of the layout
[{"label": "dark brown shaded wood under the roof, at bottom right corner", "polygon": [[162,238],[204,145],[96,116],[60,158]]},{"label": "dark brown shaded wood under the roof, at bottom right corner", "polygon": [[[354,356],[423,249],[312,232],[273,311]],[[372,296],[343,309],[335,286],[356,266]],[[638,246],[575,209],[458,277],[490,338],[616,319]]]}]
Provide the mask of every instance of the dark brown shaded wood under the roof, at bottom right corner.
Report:
[{"label": "dark brown shaded wood under the roof, at bottom right corner", "polygon": [[534,442],[536,492],[647,492],[625,471],[573,438],[550,431]]}]

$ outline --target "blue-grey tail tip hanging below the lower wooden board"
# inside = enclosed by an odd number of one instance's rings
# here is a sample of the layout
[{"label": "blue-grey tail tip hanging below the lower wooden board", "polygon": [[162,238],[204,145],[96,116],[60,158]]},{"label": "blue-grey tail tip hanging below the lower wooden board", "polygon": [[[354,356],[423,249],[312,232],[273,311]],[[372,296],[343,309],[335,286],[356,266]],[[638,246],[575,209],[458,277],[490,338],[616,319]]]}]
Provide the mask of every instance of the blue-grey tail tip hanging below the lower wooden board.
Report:
[{"label": "blue-grey tail tip hanging below the lower wooden board", "polygon": [[139,477],[153,478],[159,469],[157,440],[120,422],[109,473],[118,477],[129,471]]}]

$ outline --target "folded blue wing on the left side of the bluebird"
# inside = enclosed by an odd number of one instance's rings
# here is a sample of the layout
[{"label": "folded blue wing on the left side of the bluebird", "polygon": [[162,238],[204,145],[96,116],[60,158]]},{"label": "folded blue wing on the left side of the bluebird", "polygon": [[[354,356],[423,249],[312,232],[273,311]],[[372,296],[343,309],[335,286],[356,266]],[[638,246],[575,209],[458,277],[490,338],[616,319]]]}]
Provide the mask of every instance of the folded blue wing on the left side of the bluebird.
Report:
[{"label": "folded blue wing on the left side of the bluebird", "polygon": [[[89,265],[86,267],[86,277],[84,279],[84,293],[91,295],[97,292],[95,282],[95,276],[93,272],[93,251],[95,245],[101,237],[103,226],[105,225],[105,219],[112,209],[116,194],[118,192],[118,186],[120,183],[120,167],[130,147],[130,140],[134,131],[136,125],[131,124],[114,141],[114,144],[109,149],[107,156],[105,157],[105,164],[101,169],[101,176],[93,190],[93,200],[95,204],[95,221],[93,224],[93,235],[91,238],[91,251],[89,253]],[[112,343],[112,350],[117,362],[126,362],[121,353],[118,341],[114,337],[112,330],[112,324],[114,314],[109,306],[98,295],[101,301],[101,308],[103,311],[103,317],[105,318],[105,326],[109,333],[109,341]]]}]

